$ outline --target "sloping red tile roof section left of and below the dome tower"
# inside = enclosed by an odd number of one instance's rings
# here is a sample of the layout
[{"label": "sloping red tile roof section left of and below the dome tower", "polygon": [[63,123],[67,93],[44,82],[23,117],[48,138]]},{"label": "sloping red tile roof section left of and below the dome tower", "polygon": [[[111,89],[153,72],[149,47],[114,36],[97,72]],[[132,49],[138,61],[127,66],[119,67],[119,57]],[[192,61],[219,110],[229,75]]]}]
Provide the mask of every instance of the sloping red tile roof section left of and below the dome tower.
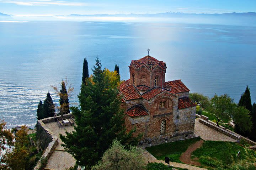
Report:
[{"label": "sloping red tile roof section left of and below the dome tower", "polygon": [[122,88],[120,92],[126,101],[141,98],[139,92],[136,90],[136,87],[134,85],[126,86]]}]

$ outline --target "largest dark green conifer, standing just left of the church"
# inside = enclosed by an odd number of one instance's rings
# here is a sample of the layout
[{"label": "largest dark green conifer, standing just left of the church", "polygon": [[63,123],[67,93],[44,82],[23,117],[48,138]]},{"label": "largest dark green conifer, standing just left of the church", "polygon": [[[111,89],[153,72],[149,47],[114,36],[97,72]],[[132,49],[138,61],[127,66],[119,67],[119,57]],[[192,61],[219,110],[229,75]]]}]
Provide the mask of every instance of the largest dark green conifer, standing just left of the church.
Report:
[{"label": "largest dark green conifer, standing just left of the church", "polygon": [[74,156],[78,165],[95,165],[114,139],[122,145],[137,145],[134,130],[126,132],[124,111],[120,109],[117,85],[111,87],[97,58],[93,75],[82,84],[78,96],[80,107],[71,107],[76,126],[72,133],[60,135],[62,146]]}]

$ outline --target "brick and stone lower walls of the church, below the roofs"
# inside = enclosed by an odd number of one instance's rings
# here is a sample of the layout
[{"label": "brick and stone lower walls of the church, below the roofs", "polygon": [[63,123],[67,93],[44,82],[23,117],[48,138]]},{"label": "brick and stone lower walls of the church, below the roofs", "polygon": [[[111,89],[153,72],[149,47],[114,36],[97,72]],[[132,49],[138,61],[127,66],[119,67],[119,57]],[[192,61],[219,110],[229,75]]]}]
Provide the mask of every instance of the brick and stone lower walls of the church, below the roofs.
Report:
[{"label": "brick and stone lower walls of the church, below the roofs", "polygon": [[[166,101],[166,108],[159,108],[159,102]],[[132,106],[131,103],[129,103]],[[139,103],[138,103],[139,104]],[[141,143],[169,140],[175,136],[193,134],[196,107],[178,110],[178,97],[162,94],[151,100],[142,100],[143,106],[149,111],[148,116],[130,118],[126,116],[127,130],[136,127],[134,135],[143,134]],[[165,133],[161,134],[162,120],[166,121]]]}]

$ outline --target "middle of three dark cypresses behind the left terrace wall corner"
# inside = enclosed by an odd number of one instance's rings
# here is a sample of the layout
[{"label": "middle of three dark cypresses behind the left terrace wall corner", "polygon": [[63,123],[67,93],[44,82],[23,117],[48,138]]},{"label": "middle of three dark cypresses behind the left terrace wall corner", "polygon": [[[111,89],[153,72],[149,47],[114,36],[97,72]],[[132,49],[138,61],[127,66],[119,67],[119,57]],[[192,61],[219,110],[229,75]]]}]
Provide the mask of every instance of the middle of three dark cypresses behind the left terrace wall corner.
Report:
[{"label": "middle of three dark cypresses behind the left terrace wall corner", "polygon": [[50,93],[48,92],[43,103],[43,118],[54,117],[54,113],[55,107],[52,97],[50,97]]}]

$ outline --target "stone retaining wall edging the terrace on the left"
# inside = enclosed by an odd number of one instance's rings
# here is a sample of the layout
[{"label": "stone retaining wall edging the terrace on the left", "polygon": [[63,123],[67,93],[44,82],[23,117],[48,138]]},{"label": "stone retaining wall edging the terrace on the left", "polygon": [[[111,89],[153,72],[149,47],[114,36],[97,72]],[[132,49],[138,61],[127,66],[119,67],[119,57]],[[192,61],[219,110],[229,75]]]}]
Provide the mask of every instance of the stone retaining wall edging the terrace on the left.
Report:
[{"label": "stone retaining wall edging the terrace on the left", "polygon": [[[65,114],[64,119],[68,119],[72,116],[72,113]],[[61,115],[57,116],[58,120],[62,120]],[[58,145],[58,137],[53,134],[53,132],[46,127],[44,123],[49,123],[55,121],[54,117],[45,118],[41,120],[37,120],[36,128],[37,128],[37,141],[38,145],[41,148],[46,148],[43,152],[42,157],[49,159],[52,155],[54,149]],[[38,161],[34,170],[39,170],[41,166],[40,161]]]}]

